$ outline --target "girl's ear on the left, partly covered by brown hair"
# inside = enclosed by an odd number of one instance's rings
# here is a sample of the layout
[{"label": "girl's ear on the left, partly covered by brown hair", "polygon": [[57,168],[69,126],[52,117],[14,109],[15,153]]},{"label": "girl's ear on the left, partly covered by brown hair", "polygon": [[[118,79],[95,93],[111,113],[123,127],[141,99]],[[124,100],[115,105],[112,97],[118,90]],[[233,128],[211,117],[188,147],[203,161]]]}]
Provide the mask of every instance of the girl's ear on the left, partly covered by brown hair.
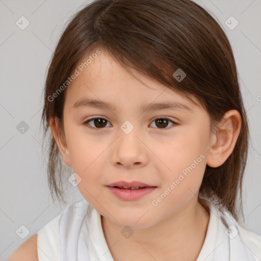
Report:
[{"label": "girl's ear on the left, partly covered by brown hair", "polygon": [[59,127],[58,127],[59,126],[58,119],[55,118],[55,120],[54,120],[54,118],[51,118],[49,121],[49,125],[50,125],[50,129],[51,129],[51,133],[53,134],[53,136],[56,140],[56,144],[63,156],[64,163],[68,167],[71,167],[71,160],[70,160],[70,156],[69,156],[68,146],[66,144],[65,137],[62,137],[63,135],[60,134]]}]

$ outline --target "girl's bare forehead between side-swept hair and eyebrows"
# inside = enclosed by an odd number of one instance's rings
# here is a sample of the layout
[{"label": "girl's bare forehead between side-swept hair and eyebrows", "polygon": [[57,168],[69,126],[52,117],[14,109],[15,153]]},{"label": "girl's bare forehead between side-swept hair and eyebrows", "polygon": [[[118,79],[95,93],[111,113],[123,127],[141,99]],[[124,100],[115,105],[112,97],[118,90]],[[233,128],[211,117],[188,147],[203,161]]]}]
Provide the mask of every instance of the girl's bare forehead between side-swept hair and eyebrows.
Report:
[{"label": "girl's bare forehead between side-swept hair and eyebrows", "polygon": [[[66,103],[73,108],[77,101],[84,99],[111,101],[116,107],[117,104],[134,105],[143,107],[145,103],[183,103],[189,108],[199,104],[195,97],[187,99],[181,94],[167,88],[151,77],[132,71],[140,81],[127,72],[107,53],[101,51],[96,57],[89,59],[84,57],[76,67],[79,75],[72,81],[67,89]],[[194,102],[193,102],[194,101]],[[116,109],[115,107],[115,109]],[[153,109],[153,107],[151,107]],[[155,108],[156,109],[156,108]]]}]

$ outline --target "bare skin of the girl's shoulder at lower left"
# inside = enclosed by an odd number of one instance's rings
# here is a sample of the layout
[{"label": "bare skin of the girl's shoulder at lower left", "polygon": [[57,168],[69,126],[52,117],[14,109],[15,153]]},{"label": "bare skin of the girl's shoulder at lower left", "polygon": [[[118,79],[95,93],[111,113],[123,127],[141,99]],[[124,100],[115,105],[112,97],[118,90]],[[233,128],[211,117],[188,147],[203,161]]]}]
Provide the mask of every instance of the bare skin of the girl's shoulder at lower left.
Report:
[{"label": "bare skin of the girl's shoulder at lower left", "polygon": [[7,261],[38,261],[37,234],[21,244]]}]

